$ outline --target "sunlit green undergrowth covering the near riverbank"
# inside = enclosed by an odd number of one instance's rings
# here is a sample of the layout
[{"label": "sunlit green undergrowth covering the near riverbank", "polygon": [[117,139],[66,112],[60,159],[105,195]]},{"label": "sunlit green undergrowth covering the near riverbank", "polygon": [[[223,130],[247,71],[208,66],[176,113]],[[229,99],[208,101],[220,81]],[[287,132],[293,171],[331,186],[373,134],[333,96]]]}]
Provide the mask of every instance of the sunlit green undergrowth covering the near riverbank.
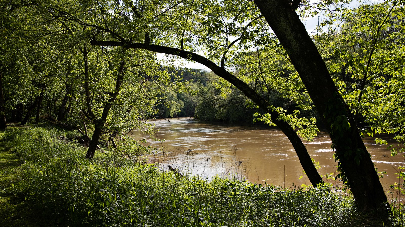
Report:
[{"label": "sunlit green undergrowth covering the near riverbank", "polygon": [[[182,177],[108,149],[86,160],[85,149],[56,129],[0,133],[0,226],[371,225],[352,197],[327,185]],[[403,226],[396,215],[389,225]]]}]

